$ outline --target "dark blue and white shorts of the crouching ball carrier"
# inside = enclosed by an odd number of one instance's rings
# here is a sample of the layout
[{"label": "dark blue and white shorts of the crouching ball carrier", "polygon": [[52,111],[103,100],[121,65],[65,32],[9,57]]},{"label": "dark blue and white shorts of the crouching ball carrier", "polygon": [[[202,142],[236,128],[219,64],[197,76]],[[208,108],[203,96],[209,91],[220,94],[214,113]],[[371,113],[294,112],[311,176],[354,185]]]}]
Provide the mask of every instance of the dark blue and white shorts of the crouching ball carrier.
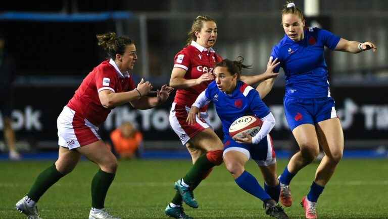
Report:
[{"label": "dark blue and white shorts of the crouching ball carrier", "polygon": [[276,163],[273,141],[269,134],[267,134],[267,137],[264,137],[258,144],[237,143],[230,136],[224,136],[223,143],[223,155],[229,151],[238,151],[245,154],[248,159],[252,157],[259,166],[269,166]]}]

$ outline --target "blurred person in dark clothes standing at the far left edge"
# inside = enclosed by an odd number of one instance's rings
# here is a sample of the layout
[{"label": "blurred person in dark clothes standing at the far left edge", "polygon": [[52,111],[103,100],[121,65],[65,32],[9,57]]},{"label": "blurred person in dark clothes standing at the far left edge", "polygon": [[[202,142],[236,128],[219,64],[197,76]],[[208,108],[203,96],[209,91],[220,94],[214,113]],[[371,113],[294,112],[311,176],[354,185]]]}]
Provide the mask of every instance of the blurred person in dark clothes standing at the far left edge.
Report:
[{"label": "blurred person in dark clothes standing at the far left edge", "polygon": [[4,140],[9,148],[10,159],[20,160],[21,156],[15,147],[15,132],[12,128],[12,99],[15,79],[15,66],[12,57],[6,51],[6,39],[0,33],[0,111],[3,121]]}]

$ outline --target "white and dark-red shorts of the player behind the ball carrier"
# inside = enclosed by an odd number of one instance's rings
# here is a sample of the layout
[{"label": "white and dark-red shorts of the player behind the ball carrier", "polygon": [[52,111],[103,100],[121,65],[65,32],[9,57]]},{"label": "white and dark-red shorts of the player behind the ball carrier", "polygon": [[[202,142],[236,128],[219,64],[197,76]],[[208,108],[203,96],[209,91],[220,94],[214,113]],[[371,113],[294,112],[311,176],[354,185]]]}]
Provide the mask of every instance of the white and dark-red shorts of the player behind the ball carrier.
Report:
[{"label": "white and dark-red shorts of the player behind the ball carrier", "polygon": [[175,133],[178,135],[182,144],[185,145],[191,137],[196,136],[205,128],[212,128],[207,112],[201,112],[201,118],[196,116],[197,123],[189,125],[186,118],[190,108],[185,105],[172,103],[170,111],[170,125]]}]

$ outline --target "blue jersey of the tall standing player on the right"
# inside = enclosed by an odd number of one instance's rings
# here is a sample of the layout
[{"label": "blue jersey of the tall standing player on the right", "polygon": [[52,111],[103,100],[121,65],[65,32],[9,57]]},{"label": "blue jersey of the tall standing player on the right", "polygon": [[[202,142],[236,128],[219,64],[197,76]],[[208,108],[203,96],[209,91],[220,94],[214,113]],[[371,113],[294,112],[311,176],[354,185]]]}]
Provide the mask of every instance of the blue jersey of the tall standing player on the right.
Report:
[{"label": "blue jersey of the tall standing player on the right", "polygon": [[327,97],[329,84],[327,81],[327,65],[324,58],[324,47],[333,50],[340,37],[327,30],[307,28],[304,39],[295,42],[287,35],[275,45],[271,56],[278,58],[285,73],[285,96],[293,98]]}]

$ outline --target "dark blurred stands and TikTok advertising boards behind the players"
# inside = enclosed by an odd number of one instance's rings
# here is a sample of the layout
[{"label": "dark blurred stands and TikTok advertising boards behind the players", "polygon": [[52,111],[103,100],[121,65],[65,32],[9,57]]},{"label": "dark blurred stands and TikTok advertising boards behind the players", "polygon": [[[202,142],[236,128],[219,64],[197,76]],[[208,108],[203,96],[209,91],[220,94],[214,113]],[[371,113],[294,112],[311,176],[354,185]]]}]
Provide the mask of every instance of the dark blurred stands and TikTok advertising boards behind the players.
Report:
[{"label": "dark blurred stands and TikTok advertising boards behind the players", "polygon": [[[331,93],[343,122],[346,149],[384,149],[388,145],[388,3],[385,1],[296,1],[318,4],[318,14],[307,15],[310,26],[323,27],[349,40],[372,41],[376,53],[357,55],[328,52]],[[151,81],[154,87],[169,82],[173,57],[185,44],[186,32],[199,14],[217,20],[219,35],[215,49],[225,58],[243,55],[261,73],[271,48],[283,36],[279,10],[283,1],[59,1],[20,6],[9,3],[0,14],[0,30],[8,39],[8,50],[17,60],[15,109],[12,113],[18,147],[55,150],[56,118],[83,77],[105,57],[96,45],[95,34],[115,31],[135,40],[138,63],[135,81]],[[305,9],[306,11],[307,9]],[[311,14],[311,13],[310,13]],[[284,80],[265,99],[277,124],[272,131],[276,145],[289,148],[290,132],[282,109]],[[123,121],[131,121],[144,132],[145,149],[179,150],[180,143],[168,124],[173,98],[148,111],[129,105],[118,107],[101,129],[109,132]],[[213,125],[220,122],[212,110]],[[1,124],[0,124],[1,125]],[[3,127],[1,126],[0,129]],[[0,136],[3,137],[3,136]],[[4,143],[2,143],[3,149]]]}]

